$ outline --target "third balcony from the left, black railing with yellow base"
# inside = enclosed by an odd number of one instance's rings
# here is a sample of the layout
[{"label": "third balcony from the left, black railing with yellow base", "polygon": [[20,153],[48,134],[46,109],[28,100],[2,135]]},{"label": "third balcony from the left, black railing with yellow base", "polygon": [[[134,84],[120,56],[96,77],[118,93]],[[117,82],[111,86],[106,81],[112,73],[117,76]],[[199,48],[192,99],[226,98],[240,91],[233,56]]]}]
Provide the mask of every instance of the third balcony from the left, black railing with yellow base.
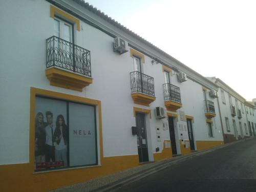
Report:
[{"label": "third balcony from the left, black railing with yellow base", "polygon": [[180,88],[170,83],[163,84],[164,104],[168,111],[176,112],[182,108]]}]

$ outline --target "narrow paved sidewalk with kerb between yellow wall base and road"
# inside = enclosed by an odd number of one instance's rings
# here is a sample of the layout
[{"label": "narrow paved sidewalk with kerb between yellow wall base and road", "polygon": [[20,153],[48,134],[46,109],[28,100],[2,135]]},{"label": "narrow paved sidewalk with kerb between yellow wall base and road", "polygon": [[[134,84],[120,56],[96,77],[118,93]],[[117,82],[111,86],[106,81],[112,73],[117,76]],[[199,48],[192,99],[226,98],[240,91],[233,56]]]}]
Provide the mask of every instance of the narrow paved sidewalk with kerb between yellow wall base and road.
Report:
[{"label": "narrow paved sidewalk with kerb between yellow wall base and road", "polygon": [[253,139],[253,138],[254,137],[251,137],[248,139],[242,139],[239,141],[234,141],[231,143],[227,143],[225,145],[209,148],[207,150],[193,152],[191,154],[182,155],[182,156],[176,156],[176,157],[173,157],[170,159],[164,159],[164,160],[161,160],[158,162],[142,164],[140,166],[137,166],[137,167],[134,167],[131,169],[127,169],[122,172],[114,173],[112,175],[89,180],[86,182],[78,183],[78,184],[67,186],[64,188],[55,189],[55,190],[52,190],[52,192],[62,192],[62,191],[64,191],[64,192],[73,192],[73,191],[103,192],[103,191],[108,191],[112,188],[116,188],[123,184],[127,184],[127,183],[133,182],[135,180],[141,179],[143,177],[146,177],[148,175],[159,172],[160,170],[162,170],[172,164],[184,161],[188,158],[193,158],[193,157],[200,156],[200,155],[203,155],[206,153],[210,153],[210,152],[219,150],[220,148],[227,147],[229,145],[236,144],[238,142],[243,142],[245,140],[249,140],[249,139]]}]

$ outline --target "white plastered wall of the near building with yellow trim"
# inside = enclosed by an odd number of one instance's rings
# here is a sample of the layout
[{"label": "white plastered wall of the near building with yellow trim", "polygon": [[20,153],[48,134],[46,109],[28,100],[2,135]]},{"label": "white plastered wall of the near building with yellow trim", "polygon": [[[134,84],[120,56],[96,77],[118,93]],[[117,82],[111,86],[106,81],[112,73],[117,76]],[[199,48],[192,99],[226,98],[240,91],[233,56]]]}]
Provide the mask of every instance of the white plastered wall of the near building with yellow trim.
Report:
[{"label": "white plastered wall of the near building with yellow trim", "polygon": [[[10,10],[15,14],[10,14]],[[104,157],[138,154],[137,139],[131,130],[136,125],[133,107],[151,109],[152,118],[146,116],[150,160],[156,147],[161,152],[163,141],[169,140],[168,129],[162,129],[167,120],[155,119],[154,113],[156,106],[165,107],[161,64],[152,65],[152,59],[145,56],[143,72],[154,77],[156,100],[150,107],[134,104],[130,88],[130,72],[133,71],[130,52],[122,55],[113,52],[113,37],[80,21],[81,30],[75,30],[75,44],[91,51],[93,83],[82,92],[50,86],[45,75],[46,39],[53,35],[50,4],[4,1],[0,14],[2,26],[6,26],[0,31],[0,124],[3,127],[0,129],[0,164],[29,161],[30,87],[100,100]],[[171,81],[181,89],[183,108],[180,110],[194,116],[195,140],[223,140],[218,115],[214,118],[214,137],[208,137],[202,86],[191,80],[179,83],[176,75]],[[217,109],[216,99],[212,101]],[[179,124],[186,125],[186,122],[178,121],[176,126]],[[156,126],[161,128],[160,142],[156,140]],[[187,133],[184,137],[188,139]]]}]

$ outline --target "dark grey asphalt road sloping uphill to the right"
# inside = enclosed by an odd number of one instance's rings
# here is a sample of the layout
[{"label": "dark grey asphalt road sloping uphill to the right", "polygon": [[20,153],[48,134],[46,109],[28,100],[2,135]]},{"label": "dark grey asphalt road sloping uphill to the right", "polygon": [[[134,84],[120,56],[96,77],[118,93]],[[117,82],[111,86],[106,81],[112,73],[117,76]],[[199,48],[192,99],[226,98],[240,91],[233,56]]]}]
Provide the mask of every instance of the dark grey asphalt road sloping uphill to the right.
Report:
[{"label": "dark grey asphalt road sloping uphill to the right", "polygon": [[111,191],[256,192],[256,139],[179,161]]}]

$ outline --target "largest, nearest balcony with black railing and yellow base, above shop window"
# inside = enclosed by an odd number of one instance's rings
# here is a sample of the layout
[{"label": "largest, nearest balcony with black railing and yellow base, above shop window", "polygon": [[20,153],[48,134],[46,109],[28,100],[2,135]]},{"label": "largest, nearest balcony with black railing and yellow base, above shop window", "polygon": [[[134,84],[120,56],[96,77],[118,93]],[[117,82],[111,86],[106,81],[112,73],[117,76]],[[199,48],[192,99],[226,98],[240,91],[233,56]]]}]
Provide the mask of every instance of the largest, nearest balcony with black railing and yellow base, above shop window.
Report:
[{"label": "largest, nearest balcony with black railing and yellow base, above shop window", "polygon": [[52,36],[46,39],[46,76],[52,86],[82,91],[92,83],[90,51]]}]

